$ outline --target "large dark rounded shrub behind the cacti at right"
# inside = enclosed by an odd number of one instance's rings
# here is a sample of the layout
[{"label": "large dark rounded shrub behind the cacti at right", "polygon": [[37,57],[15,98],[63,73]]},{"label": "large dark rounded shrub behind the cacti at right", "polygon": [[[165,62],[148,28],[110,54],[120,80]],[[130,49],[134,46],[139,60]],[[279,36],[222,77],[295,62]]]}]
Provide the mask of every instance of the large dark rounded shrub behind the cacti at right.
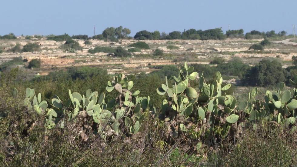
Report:
[{"label": "large dark rounded shrub behind the cacti at right", "polygon": [[244,83],[259,86],[275,85],[279,82],[286,82],[288,75],[277,60],[263,59],[247,72]]}]

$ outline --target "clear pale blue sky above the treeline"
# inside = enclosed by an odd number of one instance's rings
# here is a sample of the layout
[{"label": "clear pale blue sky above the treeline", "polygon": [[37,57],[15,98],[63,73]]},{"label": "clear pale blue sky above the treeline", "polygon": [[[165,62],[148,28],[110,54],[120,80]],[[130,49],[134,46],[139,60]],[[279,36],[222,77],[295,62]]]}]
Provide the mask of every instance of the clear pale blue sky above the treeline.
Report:
[{"label": "clear pale blue sky above the treeline", "polygon": [[0,35],[101,34],[122,25],[134,36],[222,27],[292,34],[297,0],[1,0]]}]

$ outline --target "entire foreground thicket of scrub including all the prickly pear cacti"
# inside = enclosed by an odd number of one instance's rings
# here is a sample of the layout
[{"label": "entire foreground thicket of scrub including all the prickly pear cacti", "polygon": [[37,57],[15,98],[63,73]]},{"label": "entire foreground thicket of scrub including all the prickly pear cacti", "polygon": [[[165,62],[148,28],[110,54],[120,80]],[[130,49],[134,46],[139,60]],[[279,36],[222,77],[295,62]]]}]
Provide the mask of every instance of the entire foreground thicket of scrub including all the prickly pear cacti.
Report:
[{"label": "entire foreground thicket of scrub including all the prickly pear cacti", "polygon": [[[296,164],[295,89],[292,93],[280,83],[276,91],[266,92],[265,100],[259,100],[259,90],[253,88],[248,98],[239,102],[225,94],[231,84],[223,84],[219,72],[210,80],[205,80],[204,75],[185,63],[177,76],[165,77],[161,84],[148,78],[133,82],[133,76],[118,74],[84,81],[34,82],[31,86],[36,89],[24,90],[26,83],[7,84],[1,80],[0,163],[2,166]],[[151,79],[154,78],[158,77]],[[85,84],[92,82],[96,84]],[[143,96],[136,88],[138,83],[159,95]],[[149,86],[156,83],[158,88],[152,91]],[[291,83],[297,86],[296,82]],[[14,86],[18,89],[13,89]],[[97,87],[95,90],[100,92],[87,87]],[[48,100],[45,90],[51,92]],[[156,104],[160,104],[159,108]]]}]

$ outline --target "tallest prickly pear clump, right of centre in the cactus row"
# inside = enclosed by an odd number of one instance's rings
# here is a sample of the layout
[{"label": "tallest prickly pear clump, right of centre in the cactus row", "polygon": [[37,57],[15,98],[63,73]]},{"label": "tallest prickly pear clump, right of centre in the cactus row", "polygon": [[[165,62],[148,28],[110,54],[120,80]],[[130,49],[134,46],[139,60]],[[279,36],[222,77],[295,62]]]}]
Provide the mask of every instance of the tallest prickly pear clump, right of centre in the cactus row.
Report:
[{"label": "tallest prickly pear clump, right of centre in the cactus row", "polygon": [[[199,120],[213,131],[217,126],[228,129],[230,124],[236,123],[239,119],[235,109],[236,99],[231,95],[222,95],[222,91],[228,90],[231,84],[222,88],[223,79],[219,72],[215,74],[212,84],[205,82],[203,73],[199,78],[198,76],[197,72],[193,72],[193,67],[185,63],[180,69],[179,77],[172,77],[172,86],[169,86],[165,77],[166,85],[162,84],[157,89],[159,95],[167,95],[163,100],[162,114],[159,117],[168,122],[171,137],[177,136],[179,131],[188,131],[192,123]],[[199,87],[192,88],[190,81],[197,78]],[[176,122],[180,122],[179,126],[176,126]]]}]

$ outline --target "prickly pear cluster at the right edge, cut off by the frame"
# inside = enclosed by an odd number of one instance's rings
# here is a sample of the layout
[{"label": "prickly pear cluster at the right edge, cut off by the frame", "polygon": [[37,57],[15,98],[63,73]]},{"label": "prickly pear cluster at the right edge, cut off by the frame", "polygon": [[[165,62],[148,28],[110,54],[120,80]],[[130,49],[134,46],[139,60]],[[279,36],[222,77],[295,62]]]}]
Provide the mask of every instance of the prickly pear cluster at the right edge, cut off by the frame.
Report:
[{"label": "prickly pear cluster at the right edge, cut off by the frame", "polygon": [[[291,82],[293,82],[291,80]],[[293,84],[294,85],[294,84]],[[296,86],[296,85],[294,85]],[[293,89],[293,95],[290,90],[285,90],[285,83],[277,84],[277,91],[266,91],[264,101],[255,100],[258,89],[254,88],[249,93],[249,104],[254,106],[249,114],[251,122],[277,122],[284,126],[295,125],[297,119],[297,90]],[[297,130],[292,127],[292,132]]]}]

